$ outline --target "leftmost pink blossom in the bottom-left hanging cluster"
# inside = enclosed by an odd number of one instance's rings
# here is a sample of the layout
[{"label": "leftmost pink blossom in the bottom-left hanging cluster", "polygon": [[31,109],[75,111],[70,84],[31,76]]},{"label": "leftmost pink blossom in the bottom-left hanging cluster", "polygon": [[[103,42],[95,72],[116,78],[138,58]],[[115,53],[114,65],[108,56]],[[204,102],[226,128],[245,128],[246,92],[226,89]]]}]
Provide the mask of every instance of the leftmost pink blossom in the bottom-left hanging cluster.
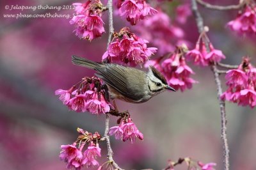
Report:
[{"label": "leftmost pink blossom in the bottom-left hanging cluster", "polygon": [[72,167],[79,169],[82,166],[83,154],[76,148],[76,143],[61,145],[61,149],[60,158],[67,162],[68,169],[72,169]]}]

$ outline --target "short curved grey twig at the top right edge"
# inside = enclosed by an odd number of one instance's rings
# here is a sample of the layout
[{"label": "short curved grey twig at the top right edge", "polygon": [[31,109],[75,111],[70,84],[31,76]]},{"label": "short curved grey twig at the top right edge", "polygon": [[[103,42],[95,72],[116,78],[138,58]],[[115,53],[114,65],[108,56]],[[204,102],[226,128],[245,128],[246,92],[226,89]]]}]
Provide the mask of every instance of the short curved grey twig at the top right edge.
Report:
[{"label": "short curved grey twig at the top right edge", "polygon": [[204,6],[205,8],[211,9],[211,10],[238,10],[240,8],[242,8],[245,4],[245,1],[243,1],[242,3],[239,4],[232,4],[232,5],[228,5],[228,6],[219,6],[219,5],[213,5],[213,4],[209,4],[209,3],[205,3],[202,0],[196,0],[196,2],[198,4],[201,4],[202,6]]}]

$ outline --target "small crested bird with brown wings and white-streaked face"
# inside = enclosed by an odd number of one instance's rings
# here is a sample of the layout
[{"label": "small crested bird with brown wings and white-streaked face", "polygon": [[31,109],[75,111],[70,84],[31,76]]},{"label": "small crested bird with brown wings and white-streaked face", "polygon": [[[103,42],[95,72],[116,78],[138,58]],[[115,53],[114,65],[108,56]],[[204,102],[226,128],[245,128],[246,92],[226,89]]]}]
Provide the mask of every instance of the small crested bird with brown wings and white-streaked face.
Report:
[{"label": "small crested bird with brown wings and white-streaked face", "polygon": [[143,72],[136,68],[113,63],[97,63],[75,55],[72,56],[72,63],[96,70],[95,75],[106,83],[112,99],[143,103],[164,89],[175,91],[168,86],[163,74],[154,66],[149,66],[148,72]]}]

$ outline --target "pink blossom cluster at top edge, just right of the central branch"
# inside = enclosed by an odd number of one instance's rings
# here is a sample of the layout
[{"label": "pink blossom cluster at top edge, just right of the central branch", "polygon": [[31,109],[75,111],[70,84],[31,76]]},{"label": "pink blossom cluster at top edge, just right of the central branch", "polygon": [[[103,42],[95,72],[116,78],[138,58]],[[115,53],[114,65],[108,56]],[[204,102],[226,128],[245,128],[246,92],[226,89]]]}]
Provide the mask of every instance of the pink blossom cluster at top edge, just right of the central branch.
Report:
[{"label": "pink blossom cluster at top edge, just right of the central branch", "polygon": [[152,8],[145,0],[124,0],[117,7],[119,7],[120,16],[124,16],[131,25],[135,25],[138,20],[143,20],[147,16],[157,13],[157,10]]}]

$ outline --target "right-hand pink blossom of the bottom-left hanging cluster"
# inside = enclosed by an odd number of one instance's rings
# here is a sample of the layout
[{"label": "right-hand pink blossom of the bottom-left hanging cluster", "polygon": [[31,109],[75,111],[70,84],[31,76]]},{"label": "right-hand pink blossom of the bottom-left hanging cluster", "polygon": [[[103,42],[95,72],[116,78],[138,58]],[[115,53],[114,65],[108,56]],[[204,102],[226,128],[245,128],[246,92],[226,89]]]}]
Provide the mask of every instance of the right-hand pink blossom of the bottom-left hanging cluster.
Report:
[{"label": "right-hand pink blossom of the bottom-left hanging cluster", "polygon": [[90,144],[88,146],[87,150],[84,151],[84,159],[82,164],[91,167],[91,166],[99,166],[99,162],[96,160],[97,157],[101,157],[100,155],[100,148],[99,144]]}]

